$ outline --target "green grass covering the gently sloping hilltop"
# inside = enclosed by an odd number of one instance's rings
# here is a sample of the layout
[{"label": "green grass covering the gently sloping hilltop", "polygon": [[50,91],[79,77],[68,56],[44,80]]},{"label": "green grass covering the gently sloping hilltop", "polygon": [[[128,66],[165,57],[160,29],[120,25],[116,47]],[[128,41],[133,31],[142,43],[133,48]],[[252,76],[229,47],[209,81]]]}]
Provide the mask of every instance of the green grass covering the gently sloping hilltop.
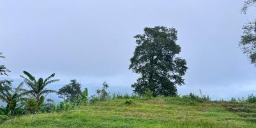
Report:
[{"label": "green grass covering the gently sloping hilltop", "polygon": [[116,99],[61,113],[26,115],[0,127],[256,127],[255,104],[180,97]]}]

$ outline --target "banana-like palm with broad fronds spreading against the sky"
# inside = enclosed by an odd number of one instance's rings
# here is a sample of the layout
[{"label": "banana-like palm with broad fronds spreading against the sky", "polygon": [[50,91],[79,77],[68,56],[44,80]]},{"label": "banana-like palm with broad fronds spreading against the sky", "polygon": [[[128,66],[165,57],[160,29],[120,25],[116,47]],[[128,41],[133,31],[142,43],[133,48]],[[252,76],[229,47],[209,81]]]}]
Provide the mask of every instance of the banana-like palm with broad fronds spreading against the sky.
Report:
[{"label": "banana-like palm with broad fronds spreading against the sky", "polygon": [[38,80],[36,80],[36,78],[34,78],[34,76],[32,76],[31,74],[27,73],[27,71],[23,71],[23,73],[28,78],[22,75],[20,75],[20,77],[24,79],[24,82],[27,84],[30,90],[27,90],[27,89],[20,89],[20,90],[23,92],[23,94],[36,99],[36,102],[38,102],[38,106],[40,106],[40,104],[42,104],[45,99],[43,94],[56,92],[55,90],[50,90],[45,88],[47,85],[50,85],[50,83],[59,82],[59,80],[51,80],[55,76],[55,73],[50,75],[45,80],[43,80],[43,78],[39,78]]}]

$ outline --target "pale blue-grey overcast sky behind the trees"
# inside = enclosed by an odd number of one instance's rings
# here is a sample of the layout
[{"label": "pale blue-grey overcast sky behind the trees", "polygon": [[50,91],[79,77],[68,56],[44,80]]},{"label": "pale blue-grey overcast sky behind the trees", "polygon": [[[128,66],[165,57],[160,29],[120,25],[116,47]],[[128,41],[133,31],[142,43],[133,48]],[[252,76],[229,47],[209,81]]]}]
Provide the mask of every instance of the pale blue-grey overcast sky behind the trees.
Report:
[{"label": "pale blue-grey overcast sky behind the trees", "polygon": [[38,77],[56,73],[83,87],[100,85],[129,92],[137,79],[128,69],[133,36],[144,27],[178,31],[181,57],[188,62],[179,94],[199,92],[214,99],[256,93],[256,68],[237,43],[241,27],[256,18],[241,14],[243,0],[44,0],[0,2],[1,59],[13,80],[22,71]]}]

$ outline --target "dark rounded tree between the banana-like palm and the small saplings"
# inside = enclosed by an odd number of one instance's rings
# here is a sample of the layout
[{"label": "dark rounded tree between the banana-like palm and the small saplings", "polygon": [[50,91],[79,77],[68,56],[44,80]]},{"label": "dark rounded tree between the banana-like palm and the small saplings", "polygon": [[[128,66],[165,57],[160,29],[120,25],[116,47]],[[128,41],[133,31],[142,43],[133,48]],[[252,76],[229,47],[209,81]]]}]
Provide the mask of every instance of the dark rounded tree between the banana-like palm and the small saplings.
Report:
[{"label": "dark rounded tree between the banana-like palm and the small saplings", "polygon": [[68,85],[65,85],[59,89],[57,94],[59,94],[59,97],[63,98],[64,101],[67,102],[75,102],[80,100],[82,95],[81,84],[78,83],[77,80],[71,80]]}]

